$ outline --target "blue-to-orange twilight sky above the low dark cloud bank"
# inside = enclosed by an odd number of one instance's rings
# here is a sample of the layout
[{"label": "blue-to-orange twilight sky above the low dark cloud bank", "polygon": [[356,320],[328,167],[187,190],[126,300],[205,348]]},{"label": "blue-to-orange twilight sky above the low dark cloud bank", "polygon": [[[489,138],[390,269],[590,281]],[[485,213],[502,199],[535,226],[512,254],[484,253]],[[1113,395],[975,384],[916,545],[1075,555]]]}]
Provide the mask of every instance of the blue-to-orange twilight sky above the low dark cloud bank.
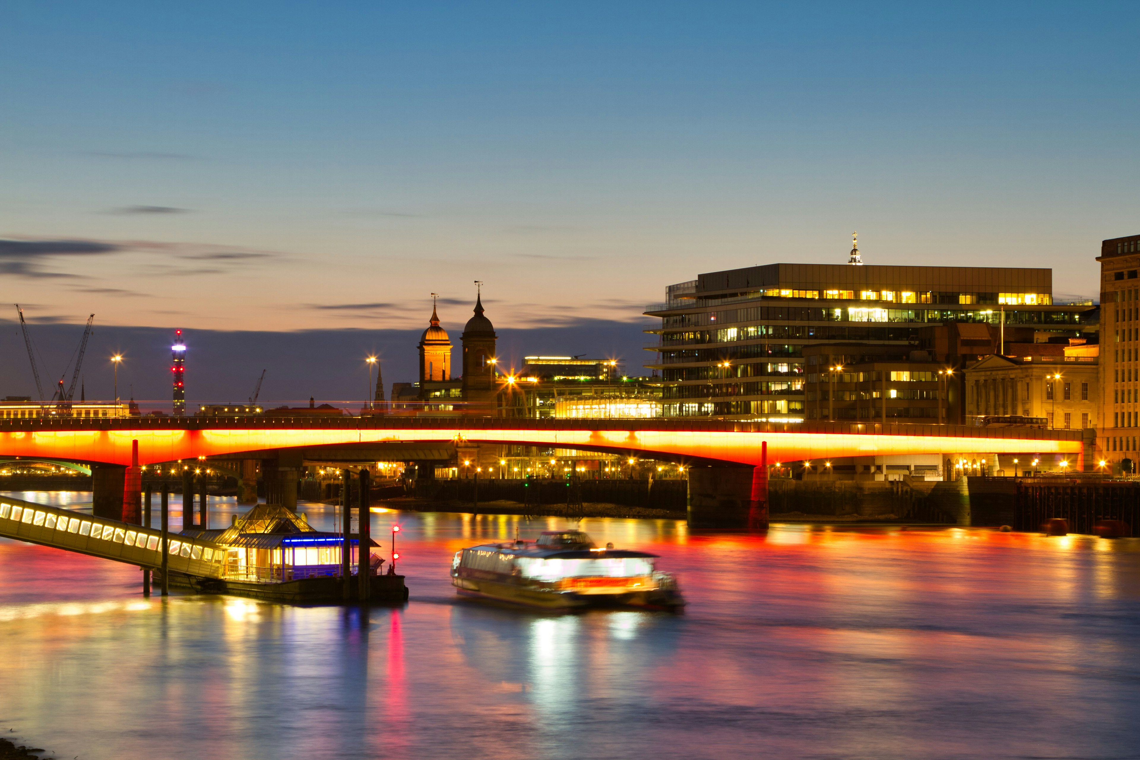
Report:
[{"label": "blue-to-orange twilight sky above the low dark cloud bank", "polygon": [[1140,231],[1138,22],[1097,2],[3,3],[0,302],[380,336],[422,329],[437,292],[457,338],[481,279],[521,351],[544,350],[536,327],[570,350],[580,325],[636,335],[701,271],[846,261],[853,229],[869,263],[1052,267],[1057,293],[1094,296],[1099,242]]}]

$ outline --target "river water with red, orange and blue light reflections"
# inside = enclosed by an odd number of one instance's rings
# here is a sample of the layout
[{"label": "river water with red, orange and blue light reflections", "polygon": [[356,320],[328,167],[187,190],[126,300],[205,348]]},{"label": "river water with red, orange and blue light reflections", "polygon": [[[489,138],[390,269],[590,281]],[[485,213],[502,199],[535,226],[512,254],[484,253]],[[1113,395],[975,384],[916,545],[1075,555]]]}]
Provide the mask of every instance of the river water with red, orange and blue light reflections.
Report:
[{"label": "river water with red, orange and blue light reflections", "polygon": [[367,612],[146,600],[137,569],[0,540],[0,732],[81,760],[1140,758],[1140,539],[586,520],[690,604],[557,615],[448,569],[562,521],[373,514],[385,557],[393,522],[412,599]]}]

